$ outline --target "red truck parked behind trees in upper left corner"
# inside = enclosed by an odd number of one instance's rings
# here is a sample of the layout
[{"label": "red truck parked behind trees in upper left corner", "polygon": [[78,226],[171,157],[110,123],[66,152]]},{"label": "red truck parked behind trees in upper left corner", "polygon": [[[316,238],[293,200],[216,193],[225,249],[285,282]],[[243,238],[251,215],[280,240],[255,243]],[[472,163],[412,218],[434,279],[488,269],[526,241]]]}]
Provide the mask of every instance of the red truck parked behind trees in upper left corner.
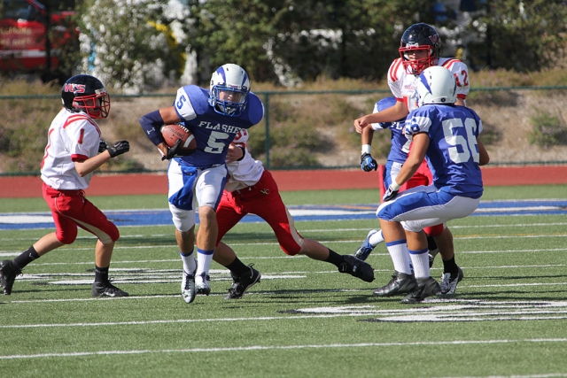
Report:
[{"label": "red truck parked behind trees in upper left corner", "polygon": [[74,12],[47,12],[35,0],[0,4],[0,71],[57,77],[62,48],[78,37],[71,26]]}]

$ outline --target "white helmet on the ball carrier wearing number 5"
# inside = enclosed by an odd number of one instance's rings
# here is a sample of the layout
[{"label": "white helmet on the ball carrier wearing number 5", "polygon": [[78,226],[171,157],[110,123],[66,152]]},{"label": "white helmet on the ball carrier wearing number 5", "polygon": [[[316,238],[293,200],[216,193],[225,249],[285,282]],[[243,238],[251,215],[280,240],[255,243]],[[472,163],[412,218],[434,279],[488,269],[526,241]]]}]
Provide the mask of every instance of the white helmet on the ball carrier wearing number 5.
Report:
[{"label": "white helmet on the ball carrier wearing number 5", "polygon": [[244,68],[231,63],[222,65],[211,77],[209,104],[214,112],[237,117],[246,108],[248,92],[250,79]]}]

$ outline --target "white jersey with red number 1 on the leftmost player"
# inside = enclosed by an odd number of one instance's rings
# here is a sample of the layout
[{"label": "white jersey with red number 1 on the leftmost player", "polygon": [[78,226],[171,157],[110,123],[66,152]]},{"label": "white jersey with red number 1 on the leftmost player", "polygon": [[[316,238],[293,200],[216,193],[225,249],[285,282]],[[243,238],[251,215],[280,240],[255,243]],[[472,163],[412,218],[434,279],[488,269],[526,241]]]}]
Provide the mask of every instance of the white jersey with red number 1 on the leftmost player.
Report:
[{"label": "white jersey with red number 1 on the leftmost player", "polygon": [[85,112],[69,112],[66,108],[51,122],[48,142],[42,160],[42,180],[53,189],[87,189],[90,177],[81,177],[74,161],[98,154],[100,129]]}]

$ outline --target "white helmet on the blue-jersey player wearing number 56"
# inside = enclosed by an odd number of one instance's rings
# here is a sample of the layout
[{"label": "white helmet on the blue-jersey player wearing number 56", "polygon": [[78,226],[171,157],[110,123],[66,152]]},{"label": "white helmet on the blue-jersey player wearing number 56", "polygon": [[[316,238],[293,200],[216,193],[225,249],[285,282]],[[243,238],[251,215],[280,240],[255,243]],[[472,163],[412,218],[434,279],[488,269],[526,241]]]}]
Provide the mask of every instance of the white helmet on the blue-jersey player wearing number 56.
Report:
[{"label": "white helmet on the blue-jersey player wearing number 56", "polygon": [[443,66],[423,70],[417,81],[417,104],[454,104],[457,102],[454,75]]}]

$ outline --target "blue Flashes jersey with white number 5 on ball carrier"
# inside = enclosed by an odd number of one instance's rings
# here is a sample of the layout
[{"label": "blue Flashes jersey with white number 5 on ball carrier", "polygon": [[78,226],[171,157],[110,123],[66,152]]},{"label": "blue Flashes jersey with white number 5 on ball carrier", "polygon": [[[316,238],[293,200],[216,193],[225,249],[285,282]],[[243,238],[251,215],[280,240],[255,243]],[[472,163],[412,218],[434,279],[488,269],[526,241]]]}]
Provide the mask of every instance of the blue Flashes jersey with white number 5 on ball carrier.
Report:
[{"label": "blue Flashes jersey with white number 5 on ball carrier", "polygon": [[248,93],[245,110],[238,117],[214,112],[208,103],[209,91],[195,85],[177,89],[175,112],[197,140],[197,150],[183,157],[190,166],[224,164],[229,144],[242,129],[256,125],[264,117],[264,105],[258,96]]}]

